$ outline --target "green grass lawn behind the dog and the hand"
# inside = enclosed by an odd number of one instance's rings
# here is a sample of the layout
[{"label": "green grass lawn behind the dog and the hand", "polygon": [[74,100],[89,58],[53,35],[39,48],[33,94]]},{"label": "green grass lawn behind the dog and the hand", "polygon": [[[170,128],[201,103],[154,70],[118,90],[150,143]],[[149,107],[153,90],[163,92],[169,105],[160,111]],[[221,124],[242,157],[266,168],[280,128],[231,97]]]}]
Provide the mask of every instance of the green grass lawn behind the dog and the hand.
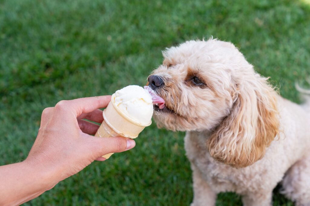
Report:
[{"label": "green grass lawn behind the dog and the hand", "polygon": [[[41,112],[61,99],[145,85],[161,50],[210,36],[231,41],[281,95],[310,75],[310,1],[0,0],[0,165],[18,162]],[[153,123],[136,147],[94,162],[25,205],[189,205],[183,132]],[[293,205],[274,192],[274,205]],[[217,205],[241,205],[233,193]]]}]

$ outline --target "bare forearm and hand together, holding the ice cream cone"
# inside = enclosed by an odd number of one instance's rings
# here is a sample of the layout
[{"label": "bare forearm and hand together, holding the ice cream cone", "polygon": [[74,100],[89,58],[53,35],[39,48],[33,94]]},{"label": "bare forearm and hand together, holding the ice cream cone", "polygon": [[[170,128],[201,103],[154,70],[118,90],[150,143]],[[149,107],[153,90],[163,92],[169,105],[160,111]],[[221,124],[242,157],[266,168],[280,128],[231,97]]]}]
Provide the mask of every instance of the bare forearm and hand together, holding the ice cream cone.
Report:
[{"label": "bare forearm and hand together, holding the ice cream cone", "polygon": [[43,110],[38,136],[23,162],[0,166],[0,205],[19,205],[50,190],[101,156],[135,146],[124,137],[94,137],[111,96],[63,100]]}]

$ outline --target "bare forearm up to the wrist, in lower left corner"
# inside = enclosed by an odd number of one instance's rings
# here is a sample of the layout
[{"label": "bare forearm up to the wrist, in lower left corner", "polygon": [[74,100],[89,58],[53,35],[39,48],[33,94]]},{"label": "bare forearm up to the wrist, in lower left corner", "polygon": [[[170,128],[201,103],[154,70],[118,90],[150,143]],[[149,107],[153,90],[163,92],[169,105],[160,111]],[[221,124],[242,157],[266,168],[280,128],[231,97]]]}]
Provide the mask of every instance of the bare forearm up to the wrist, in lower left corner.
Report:
[{"label": "bare forearm up to the wrist, in lower left corner", "polygon": [[46,171],[27,161],[0,166],[0,205],[19,205],[54,187]]}]

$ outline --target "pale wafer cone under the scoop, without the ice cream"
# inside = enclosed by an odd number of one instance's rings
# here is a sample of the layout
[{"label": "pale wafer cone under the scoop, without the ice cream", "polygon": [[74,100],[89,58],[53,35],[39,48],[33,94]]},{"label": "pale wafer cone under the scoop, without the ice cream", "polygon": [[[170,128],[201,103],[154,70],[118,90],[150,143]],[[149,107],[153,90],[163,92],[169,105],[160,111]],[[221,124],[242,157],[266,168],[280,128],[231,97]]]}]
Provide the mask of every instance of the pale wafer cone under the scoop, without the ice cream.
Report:
[{"label": "pale wafer cone under the scoop, without the ice cream", "polygon": [[[134,139],[138,137],[142,130],[149,126],[152,121],[146,124],[139,123],[126,116],[115,104],[115,94],[112,95],[111,101],[103,111],[104,121],[96,132],[96,137],[128,137]],[[106,154],[102,157],[108,159],[113,153]]]}]

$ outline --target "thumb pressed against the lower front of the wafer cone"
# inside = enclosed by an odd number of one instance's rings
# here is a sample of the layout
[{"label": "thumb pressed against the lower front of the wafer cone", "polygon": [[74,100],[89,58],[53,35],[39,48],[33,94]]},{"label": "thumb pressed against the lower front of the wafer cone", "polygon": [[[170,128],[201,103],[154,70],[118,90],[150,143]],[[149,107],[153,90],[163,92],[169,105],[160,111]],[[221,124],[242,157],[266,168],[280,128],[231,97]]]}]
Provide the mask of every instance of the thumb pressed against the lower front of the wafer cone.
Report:
[{"label": "thumb pressed against the lower front of the wafer cone", "polygon": [[135,141],[125,137],[93,137],[97,157],[108,153],[124,152],[135,147]]}]

